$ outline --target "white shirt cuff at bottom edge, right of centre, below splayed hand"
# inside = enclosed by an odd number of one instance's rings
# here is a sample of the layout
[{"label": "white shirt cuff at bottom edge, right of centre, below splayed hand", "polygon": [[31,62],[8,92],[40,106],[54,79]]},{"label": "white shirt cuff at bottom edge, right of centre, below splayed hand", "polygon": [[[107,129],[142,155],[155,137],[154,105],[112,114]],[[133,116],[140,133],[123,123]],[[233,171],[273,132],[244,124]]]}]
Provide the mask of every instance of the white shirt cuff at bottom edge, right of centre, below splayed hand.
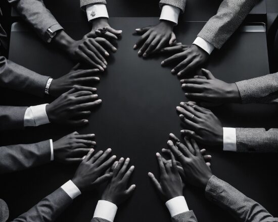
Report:
[{"label": "white shirt cuff at bottom edge, right of centre, below splayed hand", "polygon": [[171,217],[189,211],[187,201],[184,196],[178,196],[168,200],[166,206],[171,214]]}]

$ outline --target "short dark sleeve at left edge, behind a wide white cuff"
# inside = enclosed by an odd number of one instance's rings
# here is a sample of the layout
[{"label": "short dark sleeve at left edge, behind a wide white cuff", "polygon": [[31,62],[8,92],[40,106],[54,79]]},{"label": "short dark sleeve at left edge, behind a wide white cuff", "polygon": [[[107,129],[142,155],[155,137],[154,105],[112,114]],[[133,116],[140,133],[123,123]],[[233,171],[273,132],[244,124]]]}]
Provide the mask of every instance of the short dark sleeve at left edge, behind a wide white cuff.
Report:
[{"label": "short dark sleeve at left edge, behind a wide white cuff", "polygon": [[27,108],[0,105],[0,131],[24,129],[24,115]]}]

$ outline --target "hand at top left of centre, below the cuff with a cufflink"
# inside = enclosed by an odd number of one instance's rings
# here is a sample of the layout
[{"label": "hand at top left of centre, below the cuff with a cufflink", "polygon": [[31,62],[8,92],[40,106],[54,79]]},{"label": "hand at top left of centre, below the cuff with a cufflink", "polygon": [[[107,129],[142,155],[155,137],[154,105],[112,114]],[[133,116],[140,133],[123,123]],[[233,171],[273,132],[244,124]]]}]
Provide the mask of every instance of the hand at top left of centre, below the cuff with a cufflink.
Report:
[{"label": "hand at top left of centre, below the cuff with a cufflink", "polygon": [[85,38],[96,38],[99,36],[107,39],[118,39],[122,33],[122,30],[111,28],[107,18],[94,19],[91,24],[91,31],[85,35]]}]

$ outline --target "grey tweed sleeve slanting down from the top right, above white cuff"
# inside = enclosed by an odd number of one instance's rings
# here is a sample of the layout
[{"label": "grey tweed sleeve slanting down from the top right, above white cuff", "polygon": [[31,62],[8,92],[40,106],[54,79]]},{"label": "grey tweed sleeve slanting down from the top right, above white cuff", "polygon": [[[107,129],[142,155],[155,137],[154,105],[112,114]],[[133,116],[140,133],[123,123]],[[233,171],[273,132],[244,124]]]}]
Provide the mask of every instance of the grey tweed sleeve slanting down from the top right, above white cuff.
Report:
[{"label": "grey tweed sleeve slanting down from the top right, above white cuff", "polygon": [[261,0],[224,0],[217,14],[209,19],[198,36],[215,48],[221,48],[259,1]]}]

